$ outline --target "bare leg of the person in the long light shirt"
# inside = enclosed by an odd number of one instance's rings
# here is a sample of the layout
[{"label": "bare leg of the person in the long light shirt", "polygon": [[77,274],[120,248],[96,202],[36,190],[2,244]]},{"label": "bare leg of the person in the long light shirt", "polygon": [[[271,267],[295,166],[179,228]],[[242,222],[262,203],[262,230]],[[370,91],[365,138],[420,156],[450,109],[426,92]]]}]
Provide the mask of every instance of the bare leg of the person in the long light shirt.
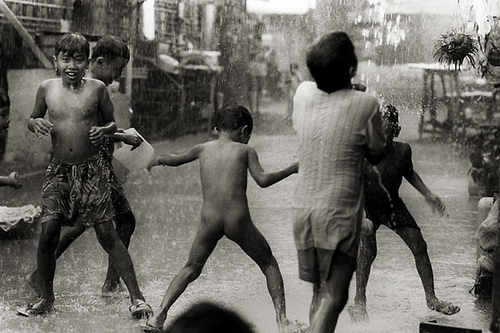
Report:
[{"label": "bare leg of the person in the long light shirt", "polygon": [[340,312],[344,309],[349,297],[349,284],[356,269],[347,255],[340,261],[334,260],[330,268],[328,280],[313,285],[313,300],[308,333],[332,333],[337,326]]}]

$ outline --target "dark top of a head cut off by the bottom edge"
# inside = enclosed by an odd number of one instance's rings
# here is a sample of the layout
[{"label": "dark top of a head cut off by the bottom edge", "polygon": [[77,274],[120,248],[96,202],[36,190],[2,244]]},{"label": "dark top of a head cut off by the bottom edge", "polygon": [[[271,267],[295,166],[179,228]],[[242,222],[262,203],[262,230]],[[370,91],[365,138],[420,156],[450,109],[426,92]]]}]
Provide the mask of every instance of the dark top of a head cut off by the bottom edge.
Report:
[{"label": "dark top of a head cut off by the bottom edge", "polygon": [[182,313],[166,333],[255,333],[238,313],[211,302],[200,302]]}]

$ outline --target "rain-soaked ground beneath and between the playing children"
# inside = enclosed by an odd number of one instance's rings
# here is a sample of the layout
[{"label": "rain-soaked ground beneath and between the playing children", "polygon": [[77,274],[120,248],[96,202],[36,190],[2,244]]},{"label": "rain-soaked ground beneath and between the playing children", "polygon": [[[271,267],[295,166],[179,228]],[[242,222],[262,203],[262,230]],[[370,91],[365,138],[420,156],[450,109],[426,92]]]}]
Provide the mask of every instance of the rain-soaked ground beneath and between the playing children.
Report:
[{"label": "rain-soaked ground beneath and between the playing children", "polygon": [[[284,104],[273,106],[274,120],[284,116]],[[276,111],[278,110],[278,111]],[[282,110],[282,111],[281,111]],[[400,109],[400,138],[413,148],[414,167],[431,190],[447,205],[448,218],[432,214],[421,195],[404,183],[401,195],[422,228],[433,264],[438,297],[462,310],[445,316],[427,309],[413,257],[396,234],[378,232],[378,257],[368,284],[369,324],[351,323],[347,311],[339,319],[338,332],[418,332],[422,321],[482,329],[488,332],[490,305],[469,293],[476,272],[478,198],[467,194],[468,159],[446,140],[418,140],[417,112]],[[265,115],[262,117],[265,118]],[[266,130],[256,125],[250,140],[265,170],[275,170],[293,160],[296,137],[283,122]],[[278,133],[271,135],[271,133]],[[179,151],[208,135],[191,135],[153,144],[156,152]],[[139,283],[148,302],[156,308],[173,276],[187,259],[199,221],[201,189],[198,164],[156,168],[131,174],[125,185],[137,219],[130,253]],[[288,315],[308,321],[311,287],[297,274],[292,239],[290,200],[295,176],[259,188],[249,181],[248,197],[254,223],[268,239],[285,281]],[[0,189],[2,204],[39,204],[39,175],[25,178],[22,190]],[[35,266],[37,235],[0,240],[0,331],[1,332],[140,332],[130,318],[126,292],[103,297],[100,287],[107,258],[93,231],[87,231],[58,261],[55,311],[25,318],[15,309],[35,295],[23,277]],[[355,282],[351,285],[352,304]],[[234,308],[262,333],[277,332],[274,310],[264,276],[234,243],[223,239],[197,281],[171,309],[167,323],[191,304],[212,300]]]}]

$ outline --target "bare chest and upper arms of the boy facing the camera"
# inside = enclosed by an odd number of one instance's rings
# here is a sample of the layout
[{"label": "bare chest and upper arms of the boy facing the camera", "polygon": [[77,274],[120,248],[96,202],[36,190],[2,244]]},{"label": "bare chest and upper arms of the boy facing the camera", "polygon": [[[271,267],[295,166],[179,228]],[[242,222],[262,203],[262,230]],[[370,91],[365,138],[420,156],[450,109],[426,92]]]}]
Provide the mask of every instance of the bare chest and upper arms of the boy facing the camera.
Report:
[{"label": "bare chest and upper arms of the boy facing the camera", "polygon": [[42,82],[35,108],[47,110],[52,127],[54,158],[64,163],[87,160],[99,152],[93,143],[94,126],[113,120],[113,106],[106,86],[98,80],[82,79],[79,87],[63,84],[62,79]]}]

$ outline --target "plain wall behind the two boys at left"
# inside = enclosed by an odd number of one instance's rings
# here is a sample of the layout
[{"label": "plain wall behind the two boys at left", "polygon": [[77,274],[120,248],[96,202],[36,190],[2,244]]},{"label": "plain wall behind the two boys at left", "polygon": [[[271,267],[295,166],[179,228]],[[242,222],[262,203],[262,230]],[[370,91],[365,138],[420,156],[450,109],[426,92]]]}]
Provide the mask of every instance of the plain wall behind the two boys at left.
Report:
[{"label": "plain wall behind the two boys at left", "polygon": [[[5,161],[30,163],[46,166],[50,160],[50,138],[38,139],[31,133],[26,123],[33,111],[35,95],[43,80],[54,78],[49,69],[20,69],[8,72],[10,107],[10,128],[7,137]],[[108,87],[118,126],[129,127],[129,101],[125,94],[118,91],[118,83]]]}]

